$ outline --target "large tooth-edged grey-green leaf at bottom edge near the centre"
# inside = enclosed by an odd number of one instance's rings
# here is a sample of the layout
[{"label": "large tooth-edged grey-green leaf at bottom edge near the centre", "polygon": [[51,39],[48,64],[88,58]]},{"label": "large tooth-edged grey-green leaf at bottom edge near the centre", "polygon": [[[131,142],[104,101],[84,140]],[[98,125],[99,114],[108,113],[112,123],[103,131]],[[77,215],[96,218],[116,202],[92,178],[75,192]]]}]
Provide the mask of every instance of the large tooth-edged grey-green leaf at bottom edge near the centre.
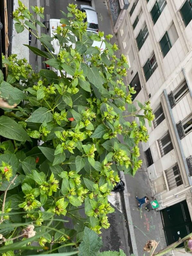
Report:
[{"label": "large tooth-edged grey-green leaf at bottom edge near the centre", "polygon": [[88,227],[84,229],[83,241],[79,245],[78,256],[95,256],[103,242],[101,237]]}]

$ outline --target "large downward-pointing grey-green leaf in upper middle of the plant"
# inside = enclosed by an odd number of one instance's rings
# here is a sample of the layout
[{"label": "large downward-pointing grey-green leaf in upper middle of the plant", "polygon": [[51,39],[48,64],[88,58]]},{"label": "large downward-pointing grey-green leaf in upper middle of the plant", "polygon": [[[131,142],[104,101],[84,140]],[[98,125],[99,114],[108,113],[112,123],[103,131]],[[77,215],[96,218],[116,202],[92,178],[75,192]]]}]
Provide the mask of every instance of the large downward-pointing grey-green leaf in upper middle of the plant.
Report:
[{"label": "large downward-pointing grey-green leaf in upper middle of the plant", "polygon": [[87,78],[95,87],[97,87],[99,92],[102,91],[104,80],[97,67],[87,67]]}]

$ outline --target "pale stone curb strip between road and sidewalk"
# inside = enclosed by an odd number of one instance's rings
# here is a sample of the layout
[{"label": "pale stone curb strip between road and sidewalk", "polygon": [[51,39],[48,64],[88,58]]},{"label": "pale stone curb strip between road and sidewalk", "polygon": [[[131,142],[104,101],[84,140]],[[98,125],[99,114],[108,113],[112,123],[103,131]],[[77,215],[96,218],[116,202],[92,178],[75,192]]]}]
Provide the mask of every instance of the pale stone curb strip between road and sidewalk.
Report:
[{"label": "pale stone curb strip between road and sidewalk", "polygon": [[120,172],[121,174],[121,179],[125,183],[125,190],[123,191],[123,196],[124,196],[124,201],[125,201],[125,209],[126,209],[126,214],[127,214],[127,220],[128,220],[128,226],[129,226],[129,232],[130,232],[130,237],[131,237],[131,243],[132,243],[132,248],[133,248],[133,253],[135,256],[138,256],[138,251],[137,251],[137,245],[136,245],[136,240],[135,240],[135,232],[134,232],[134,226],[132,222],[132,217],[131,217],[131,210],[129,206],[129,196],[128,196],[128,191],[127,191],[127,184],[125,180],[125,174],[124,172]]}]

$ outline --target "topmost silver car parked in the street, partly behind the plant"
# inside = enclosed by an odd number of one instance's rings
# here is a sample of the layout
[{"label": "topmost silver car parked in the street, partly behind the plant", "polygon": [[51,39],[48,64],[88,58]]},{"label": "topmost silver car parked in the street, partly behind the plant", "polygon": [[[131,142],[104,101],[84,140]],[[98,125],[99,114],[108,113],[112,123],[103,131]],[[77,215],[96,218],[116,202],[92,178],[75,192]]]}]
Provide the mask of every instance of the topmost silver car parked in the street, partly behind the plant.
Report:
[{"label": "topmost silver car parked in the street, partly behind the plant", "polygon": [[95,9],[92,6],[81,4],[79,10],[86,13],[87,17],[84,22],[87,22],[87,29],[99,31],[97,12]]}]

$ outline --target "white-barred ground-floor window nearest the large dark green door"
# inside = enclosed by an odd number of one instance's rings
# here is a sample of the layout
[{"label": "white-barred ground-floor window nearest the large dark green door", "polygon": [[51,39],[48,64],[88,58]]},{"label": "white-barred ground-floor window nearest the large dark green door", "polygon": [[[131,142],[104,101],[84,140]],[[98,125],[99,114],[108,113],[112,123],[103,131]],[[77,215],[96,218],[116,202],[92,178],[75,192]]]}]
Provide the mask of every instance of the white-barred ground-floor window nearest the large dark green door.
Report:
[{"label": "white-barred ground-floor window nearest the large dark green door", "polygon": [[166,170],[165,174],[170,190],[183,184],[178,164],[173,166],[171,169]]}]

